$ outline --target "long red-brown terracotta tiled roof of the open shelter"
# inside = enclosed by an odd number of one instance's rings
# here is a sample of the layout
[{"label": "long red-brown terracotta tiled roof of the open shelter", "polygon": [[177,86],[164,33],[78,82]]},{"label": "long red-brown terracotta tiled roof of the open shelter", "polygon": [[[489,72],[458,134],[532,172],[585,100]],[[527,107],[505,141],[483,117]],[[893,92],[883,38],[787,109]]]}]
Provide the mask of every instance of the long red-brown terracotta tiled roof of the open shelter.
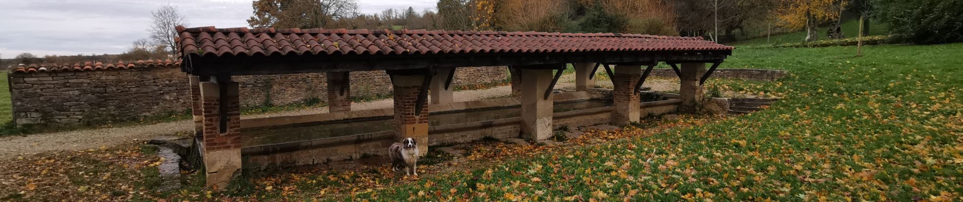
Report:
[{"label": "long red-brown terracotta tiled roof of the open shelter", "polygon": [[559,34],[177,27],[180,56],[429,55],[607,51],[731,51],[702,37],[646,34]]}]

